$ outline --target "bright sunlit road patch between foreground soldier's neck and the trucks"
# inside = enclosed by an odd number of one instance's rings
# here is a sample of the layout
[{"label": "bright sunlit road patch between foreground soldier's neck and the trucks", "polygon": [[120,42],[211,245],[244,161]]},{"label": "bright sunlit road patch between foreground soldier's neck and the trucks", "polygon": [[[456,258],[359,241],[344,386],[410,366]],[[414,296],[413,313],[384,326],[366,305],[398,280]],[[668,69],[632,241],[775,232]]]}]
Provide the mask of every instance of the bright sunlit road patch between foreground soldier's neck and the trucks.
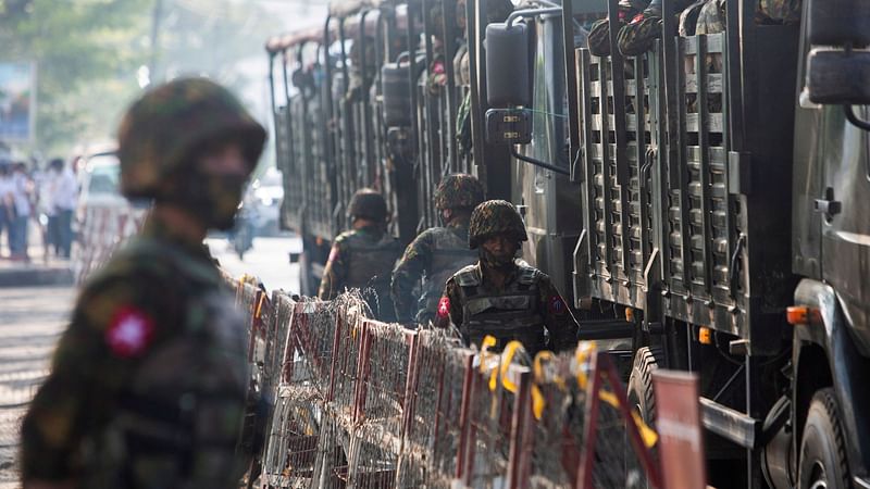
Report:
[{"label": "bright sunlit road patch between foreground soldier's neck and the trucks", "polygon": [[289,253],[300,252],[302,241],[297,237],[253,238],[253,248],[239,260],[224,238],[209,238],[206,243],[221,266],[234,277],[250,274],[260,277],[270,291],[284,289],[299,292],[299,265],[290,263]]}]

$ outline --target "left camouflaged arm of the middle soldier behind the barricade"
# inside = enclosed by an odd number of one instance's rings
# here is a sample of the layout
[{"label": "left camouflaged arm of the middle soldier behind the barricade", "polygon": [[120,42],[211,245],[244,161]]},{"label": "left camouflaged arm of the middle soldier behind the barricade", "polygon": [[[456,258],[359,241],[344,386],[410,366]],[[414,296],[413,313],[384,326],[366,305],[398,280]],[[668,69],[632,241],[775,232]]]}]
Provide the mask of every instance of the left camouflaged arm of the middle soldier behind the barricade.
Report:
[{"label": "left camouflaged arm of the middle soldier behind the barricade", "polygon": [[417,300],[413,297],[414,287],[420,284],[423,272],[432,264],[432,239],[428,233],[423,231],[408,244],[401,260],[393,271],[390,294],[396,308],[396,318],[399,323],[410,323],[417,313]]}]

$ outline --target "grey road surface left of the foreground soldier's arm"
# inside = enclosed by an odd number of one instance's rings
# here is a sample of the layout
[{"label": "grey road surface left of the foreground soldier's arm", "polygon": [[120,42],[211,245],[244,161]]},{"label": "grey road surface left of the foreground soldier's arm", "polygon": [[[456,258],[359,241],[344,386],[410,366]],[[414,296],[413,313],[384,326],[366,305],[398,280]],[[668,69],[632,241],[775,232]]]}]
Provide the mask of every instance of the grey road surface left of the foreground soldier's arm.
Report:
[{"label": "grey road surface left of the foreground soldier's arm", "polygon": [[72,287],[0,288],[0,489],[20,487],[18,425],[75,300]]}]

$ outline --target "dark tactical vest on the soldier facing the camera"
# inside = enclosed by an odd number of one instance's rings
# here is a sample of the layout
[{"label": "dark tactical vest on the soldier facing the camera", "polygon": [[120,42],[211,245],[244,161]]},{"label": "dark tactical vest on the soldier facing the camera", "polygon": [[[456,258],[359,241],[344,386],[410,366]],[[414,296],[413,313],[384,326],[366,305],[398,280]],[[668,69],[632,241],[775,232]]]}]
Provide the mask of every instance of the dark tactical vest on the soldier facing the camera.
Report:
[{"label": "dark tactical vest on the soldier facing the camera", "polygon": [[478,347],[483,338],[496,338],[496,351],[511,340],[523,343],[531,355],[546,347],[544,316],[539,310],[539,273],[531,266],[520,265],[514,280],[500,292],[483,286],[481,269],[467,266],[455,277],[462,298],[462,325],[460,331]]}]

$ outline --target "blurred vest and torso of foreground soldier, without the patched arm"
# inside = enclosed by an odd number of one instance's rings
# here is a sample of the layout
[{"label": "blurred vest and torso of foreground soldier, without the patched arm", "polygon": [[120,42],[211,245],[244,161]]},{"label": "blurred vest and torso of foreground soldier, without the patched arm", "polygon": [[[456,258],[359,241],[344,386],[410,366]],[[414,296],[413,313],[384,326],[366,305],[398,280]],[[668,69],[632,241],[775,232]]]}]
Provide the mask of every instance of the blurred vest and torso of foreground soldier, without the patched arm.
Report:
[{"label": "blurred vest and torso of foreground soldier, without the patched arm", "polygon": [[[248,391],[246,328],[220,276],[160,241],[139,238],[126,260],[173,271],[185,296],[177,335],[154,344],[127,378],[115,416],[94,440],[84,487],[234,488]],[[149,262],[146,262],[149,263]]]}]

